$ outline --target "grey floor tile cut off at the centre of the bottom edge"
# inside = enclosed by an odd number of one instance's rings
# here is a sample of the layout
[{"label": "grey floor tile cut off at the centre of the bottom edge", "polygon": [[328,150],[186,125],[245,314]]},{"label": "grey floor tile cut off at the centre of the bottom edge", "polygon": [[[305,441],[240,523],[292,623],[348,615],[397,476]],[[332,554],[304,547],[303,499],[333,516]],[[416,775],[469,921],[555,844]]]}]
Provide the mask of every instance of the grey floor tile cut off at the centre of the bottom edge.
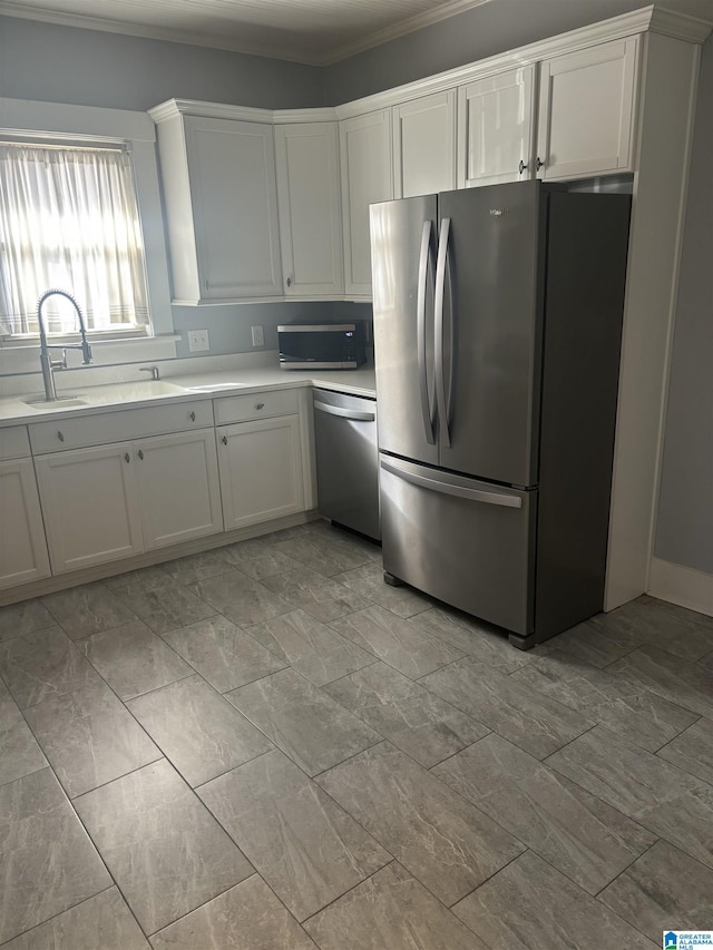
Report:
[{"label": "grey floor tile cut off at the centre of the bottom edge", "polygon": [[487,950],[395,861],[315,914],[305,929],[322,950]]}]

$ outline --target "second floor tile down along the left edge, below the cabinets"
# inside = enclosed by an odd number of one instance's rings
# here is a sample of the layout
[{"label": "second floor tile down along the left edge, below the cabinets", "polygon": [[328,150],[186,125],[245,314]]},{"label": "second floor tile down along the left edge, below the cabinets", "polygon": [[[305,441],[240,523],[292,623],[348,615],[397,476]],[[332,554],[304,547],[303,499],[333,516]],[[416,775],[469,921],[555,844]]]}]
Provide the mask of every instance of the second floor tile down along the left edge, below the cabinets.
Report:
[{"label": "second floor tile down along the left edge, below the cabinets", "polygon": [[0,674],[21,709],[99,682],[97,672],[59,627],[0,644]]}]

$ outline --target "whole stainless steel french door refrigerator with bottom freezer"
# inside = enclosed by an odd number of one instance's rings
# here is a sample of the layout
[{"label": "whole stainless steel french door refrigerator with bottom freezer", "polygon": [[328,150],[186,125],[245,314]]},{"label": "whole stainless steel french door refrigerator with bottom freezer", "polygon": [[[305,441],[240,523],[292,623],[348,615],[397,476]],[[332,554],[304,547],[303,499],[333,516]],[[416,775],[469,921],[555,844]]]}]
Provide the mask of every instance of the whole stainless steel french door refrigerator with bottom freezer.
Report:
[{"label": "whole stainless steel french door refrigerator with bottom freezer", "polygon": [[387,580],[529,648],[598,613],[631,197],[371,206]]}]

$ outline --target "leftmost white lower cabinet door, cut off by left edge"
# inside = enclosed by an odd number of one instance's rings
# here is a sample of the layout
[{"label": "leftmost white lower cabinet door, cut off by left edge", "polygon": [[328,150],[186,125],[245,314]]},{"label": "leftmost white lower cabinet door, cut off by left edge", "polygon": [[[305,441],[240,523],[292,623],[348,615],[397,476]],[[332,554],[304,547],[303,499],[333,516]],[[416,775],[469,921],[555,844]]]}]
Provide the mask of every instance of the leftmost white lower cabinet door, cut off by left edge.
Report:
[{"label": "leftmost white lower cabinet door, cut off by left edge", "polygon": [[32,459],[0,462],[0,588],[49,577]]}]

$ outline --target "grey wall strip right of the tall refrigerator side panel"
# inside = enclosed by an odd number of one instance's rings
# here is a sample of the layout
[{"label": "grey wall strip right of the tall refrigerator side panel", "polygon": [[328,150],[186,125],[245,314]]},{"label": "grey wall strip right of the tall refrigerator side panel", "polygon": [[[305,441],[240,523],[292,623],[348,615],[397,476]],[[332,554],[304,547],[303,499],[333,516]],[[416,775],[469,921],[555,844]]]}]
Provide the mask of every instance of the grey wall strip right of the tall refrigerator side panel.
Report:
[{"label": "grey wall strip right of the tall refrigerator side panel", "polygon": [[713,574],[713,38],[703,46],[655,554]]}]

